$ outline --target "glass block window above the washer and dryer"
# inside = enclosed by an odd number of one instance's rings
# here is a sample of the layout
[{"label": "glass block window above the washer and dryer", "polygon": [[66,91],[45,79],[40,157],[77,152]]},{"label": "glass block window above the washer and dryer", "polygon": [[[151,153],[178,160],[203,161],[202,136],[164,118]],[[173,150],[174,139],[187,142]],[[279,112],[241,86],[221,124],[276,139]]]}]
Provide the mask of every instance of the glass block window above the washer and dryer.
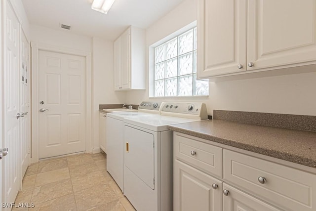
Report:
[{"label": "glass block window above the washer and dryer", "polygon": [[155,47],[155,97],[208,95],[197,80],[197,27]]}]

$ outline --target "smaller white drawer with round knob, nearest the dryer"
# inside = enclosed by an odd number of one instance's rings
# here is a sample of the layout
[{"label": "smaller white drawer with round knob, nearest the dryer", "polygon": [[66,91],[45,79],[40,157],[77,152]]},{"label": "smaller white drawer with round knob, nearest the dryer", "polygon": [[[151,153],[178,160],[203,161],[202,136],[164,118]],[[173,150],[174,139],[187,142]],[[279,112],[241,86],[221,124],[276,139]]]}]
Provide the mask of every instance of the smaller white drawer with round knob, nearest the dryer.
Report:
[{"label": "smaller white drawer with round knob, nearest the dryer", "polygon": [[197,141],[192,138],[174,134],[174,156],[180,160],[204,170],[210,174],[223,177],[223,149]]}]

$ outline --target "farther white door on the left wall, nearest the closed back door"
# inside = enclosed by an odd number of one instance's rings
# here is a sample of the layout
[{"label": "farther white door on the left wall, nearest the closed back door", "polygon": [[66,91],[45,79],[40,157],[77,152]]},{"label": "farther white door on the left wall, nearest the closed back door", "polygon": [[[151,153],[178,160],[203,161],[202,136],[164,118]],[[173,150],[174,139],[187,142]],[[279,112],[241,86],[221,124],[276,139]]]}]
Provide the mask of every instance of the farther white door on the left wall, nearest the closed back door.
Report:
[{"label": "farther white door on the left wall, nearest the closed back door", "polygon": [[21,141],[21,178],[30,163],[30,141],[31,141],[31,114],[30,114],[30,66],[29,66],[29,42],[25,34],[21,32],[21,64],[20,64],[20,104],[23,118],[20,123]]}]

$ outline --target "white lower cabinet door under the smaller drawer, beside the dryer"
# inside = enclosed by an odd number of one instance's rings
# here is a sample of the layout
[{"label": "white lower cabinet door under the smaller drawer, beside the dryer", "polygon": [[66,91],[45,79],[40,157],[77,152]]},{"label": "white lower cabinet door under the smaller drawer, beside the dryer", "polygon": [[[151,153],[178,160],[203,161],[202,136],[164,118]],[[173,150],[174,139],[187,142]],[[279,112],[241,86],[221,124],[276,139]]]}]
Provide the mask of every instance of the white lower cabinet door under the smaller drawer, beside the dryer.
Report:
[{"label": "white lower cabinet door under the smaller drawer, beside the dryer", "polygon": [[[221,211],[222,182],[181,161],[174,161],[175,211]],[[212,184],[216,184],[214,189]]]}]

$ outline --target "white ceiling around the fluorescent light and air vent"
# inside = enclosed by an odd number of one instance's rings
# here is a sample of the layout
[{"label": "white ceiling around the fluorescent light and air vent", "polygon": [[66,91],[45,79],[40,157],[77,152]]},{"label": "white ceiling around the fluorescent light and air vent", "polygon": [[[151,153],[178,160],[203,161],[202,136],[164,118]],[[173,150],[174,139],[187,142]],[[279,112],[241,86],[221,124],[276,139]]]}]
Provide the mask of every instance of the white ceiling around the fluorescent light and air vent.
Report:
[{"label": "white ceiling around the fluorescent light and air vent", "polygon": [[91,9],[92,0],[22,0],[31,24],[115,40],[129,25],[146,29],[184,0],[116,0],[108,14]]}]

